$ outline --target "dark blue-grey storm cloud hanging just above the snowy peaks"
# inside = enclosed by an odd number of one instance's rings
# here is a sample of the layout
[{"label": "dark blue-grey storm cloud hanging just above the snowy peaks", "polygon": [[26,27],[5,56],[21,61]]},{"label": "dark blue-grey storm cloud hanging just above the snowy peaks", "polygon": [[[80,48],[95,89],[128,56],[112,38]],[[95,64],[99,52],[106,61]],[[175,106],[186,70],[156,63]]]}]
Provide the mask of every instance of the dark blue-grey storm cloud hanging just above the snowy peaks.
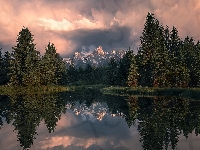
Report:
[{"label": "dark blue-grey storm cloud hanging just above the snowy peaks", "polygon": [[[89,47],[94,45],[103,47],[104,51],[110,51],[112,49],[128,49],[138,38],[132,37],[130,27],[113,27],[110,29],[94,29],[94,30],[76,30],[60,35],[63,38],[68,38],[75,43],[78,43],[74,51],[81,52],[82,46]],[[67,36],[65,36],[65,34]]]}]

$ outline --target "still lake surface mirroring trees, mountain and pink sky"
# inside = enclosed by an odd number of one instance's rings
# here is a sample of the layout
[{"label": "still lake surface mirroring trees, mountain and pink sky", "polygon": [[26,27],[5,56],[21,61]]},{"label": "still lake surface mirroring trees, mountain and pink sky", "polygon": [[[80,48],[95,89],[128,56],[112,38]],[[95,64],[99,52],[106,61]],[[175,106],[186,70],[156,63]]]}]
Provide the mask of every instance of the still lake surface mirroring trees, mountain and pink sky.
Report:
[{"label": "still lake surface mirroring trees, mountain and pink sky", "polygon": [[2,150],[194,150],[200,101],[98,90],[0,96]]}]

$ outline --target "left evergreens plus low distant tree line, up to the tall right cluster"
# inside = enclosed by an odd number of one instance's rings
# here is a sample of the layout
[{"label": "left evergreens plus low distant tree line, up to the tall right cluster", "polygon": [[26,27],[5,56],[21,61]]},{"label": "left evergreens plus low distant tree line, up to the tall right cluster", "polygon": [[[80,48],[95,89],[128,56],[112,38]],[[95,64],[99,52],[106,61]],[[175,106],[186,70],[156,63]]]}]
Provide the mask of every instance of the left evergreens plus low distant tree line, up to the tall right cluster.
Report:
[{"label": "left evergreens plus low distant tree line, up to the tall right cluster", "polygon": [[42,85],[84,85],[105,84],[126,86],[126,79],[133,51],[129,49],[120,61],[112,58],[107,67],[76,69],[72,63],[69,68],[56,52],[54,44],[48,43],[44,56],[36,50],[33,35],[23,28],[18,35],[13,51],[0,50],[0,85],[42,86]]}]

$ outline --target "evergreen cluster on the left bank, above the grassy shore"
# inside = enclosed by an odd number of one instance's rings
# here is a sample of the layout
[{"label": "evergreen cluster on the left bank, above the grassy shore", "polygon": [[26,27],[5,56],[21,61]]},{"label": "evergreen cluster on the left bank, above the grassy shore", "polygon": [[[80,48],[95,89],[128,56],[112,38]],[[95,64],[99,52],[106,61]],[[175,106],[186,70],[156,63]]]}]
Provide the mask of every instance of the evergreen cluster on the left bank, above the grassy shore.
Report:
[{"label": "evergreen cluster on the left bank, above the grassy shore", "polygon": [[43,57],[36,51],[33,35],[23,28],[18,35],[14,51],[2,56],[0,51],[0,85],[41,86],[65,84],[66,65],[54,44],[47,45]]}]

